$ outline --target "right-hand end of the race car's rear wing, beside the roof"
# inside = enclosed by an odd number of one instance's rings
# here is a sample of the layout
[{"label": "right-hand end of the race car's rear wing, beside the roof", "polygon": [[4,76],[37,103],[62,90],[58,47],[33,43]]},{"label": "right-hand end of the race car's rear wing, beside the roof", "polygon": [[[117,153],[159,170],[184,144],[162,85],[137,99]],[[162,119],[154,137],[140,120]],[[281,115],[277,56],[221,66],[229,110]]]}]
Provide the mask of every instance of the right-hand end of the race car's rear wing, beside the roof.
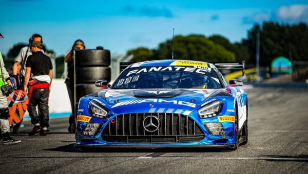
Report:
[{"label": "right-hand end of the race car's rear wing, beside the roof", "polygon": [[242,70],[242,76],[245,74],[245,61],[208,61],[208,63],[214,64],[219,70],[234,69]]}]

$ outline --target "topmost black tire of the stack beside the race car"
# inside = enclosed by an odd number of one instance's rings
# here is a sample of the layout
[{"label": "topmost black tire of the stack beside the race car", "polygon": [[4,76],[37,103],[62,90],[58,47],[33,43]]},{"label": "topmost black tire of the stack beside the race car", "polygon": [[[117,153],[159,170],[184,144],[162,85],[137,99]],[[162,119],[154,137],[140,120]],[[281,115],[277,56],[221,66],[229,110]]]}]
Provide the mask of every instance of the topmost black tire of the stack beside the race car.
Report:
[{"label": "topmost black tire of the stack beside the race car", "polygon": [[76,67],[110,66],[111,56],[109,50],[85,49],[76,50]]}]

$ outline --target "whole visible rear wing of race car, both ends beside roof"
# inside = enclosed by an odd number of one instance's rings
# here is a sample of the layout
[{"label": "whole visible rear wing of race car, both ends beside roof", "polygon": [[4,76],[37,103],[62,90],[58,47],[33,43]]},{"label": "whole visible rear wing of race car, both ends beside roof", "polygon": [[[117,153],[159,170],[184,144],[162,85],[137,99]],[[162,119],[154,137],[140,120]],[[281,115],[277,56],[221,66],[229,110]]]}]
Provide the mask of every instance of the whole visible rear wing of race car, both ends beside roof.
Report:
[{"label": "whole visible rear wing of race car, both ends beside roof", "polygon": [[[235,69],[242,70],[242,76],[245,74],[245,61],[207,61],[208,63],[214,64],[219,70],[224,69]],[[136,62],[120,62],[120,73],[132,63]]]}]

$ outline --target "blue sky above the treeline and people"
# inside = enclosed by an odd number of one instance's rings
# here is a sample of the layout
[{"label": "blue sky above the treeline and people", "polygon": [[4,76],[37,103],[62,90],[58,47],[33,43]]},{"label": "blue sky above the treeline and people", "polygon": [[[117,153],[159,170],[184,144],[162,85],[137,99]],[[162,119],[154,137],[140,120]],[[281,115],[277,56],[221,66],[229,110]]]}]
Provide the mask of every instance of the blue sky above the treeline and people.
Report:
[{"label": "blue sky above the treeline and people", "polygon": [[103,46],[111,54],[137,47],[155,49],[175,35],[220,34],[231,42],[247,37],[254,24],[308,23],[308,1],[55,1],[0,0],[0,51],[34,33],[57,56],[76,39],[88,49]]}]

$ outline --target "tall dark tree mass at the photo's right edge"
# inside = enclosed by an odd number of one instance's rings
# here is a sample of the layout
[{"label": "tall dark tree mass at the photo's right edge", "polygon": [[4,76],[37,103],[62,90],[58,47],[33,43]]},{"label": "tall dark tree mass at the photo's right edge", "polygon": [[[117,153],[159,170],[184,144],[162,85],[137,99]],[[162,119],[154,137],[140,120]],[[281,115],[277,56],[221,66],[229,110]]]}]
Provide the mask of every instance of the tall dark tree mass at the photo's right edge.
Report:
[{"label": "tall dark tree mass at the photo's right edge", "polygon": [[290,60],[308,61],[308,27],[304,23],[298,25],[281,25],[264,23],[262,28],[255,25],[248,31],[248,38],[243,45],[248,48],[250,62],[256,63],[256,35],[260,29],[260,66],[270,66],[274,58],[287,57]]}]

